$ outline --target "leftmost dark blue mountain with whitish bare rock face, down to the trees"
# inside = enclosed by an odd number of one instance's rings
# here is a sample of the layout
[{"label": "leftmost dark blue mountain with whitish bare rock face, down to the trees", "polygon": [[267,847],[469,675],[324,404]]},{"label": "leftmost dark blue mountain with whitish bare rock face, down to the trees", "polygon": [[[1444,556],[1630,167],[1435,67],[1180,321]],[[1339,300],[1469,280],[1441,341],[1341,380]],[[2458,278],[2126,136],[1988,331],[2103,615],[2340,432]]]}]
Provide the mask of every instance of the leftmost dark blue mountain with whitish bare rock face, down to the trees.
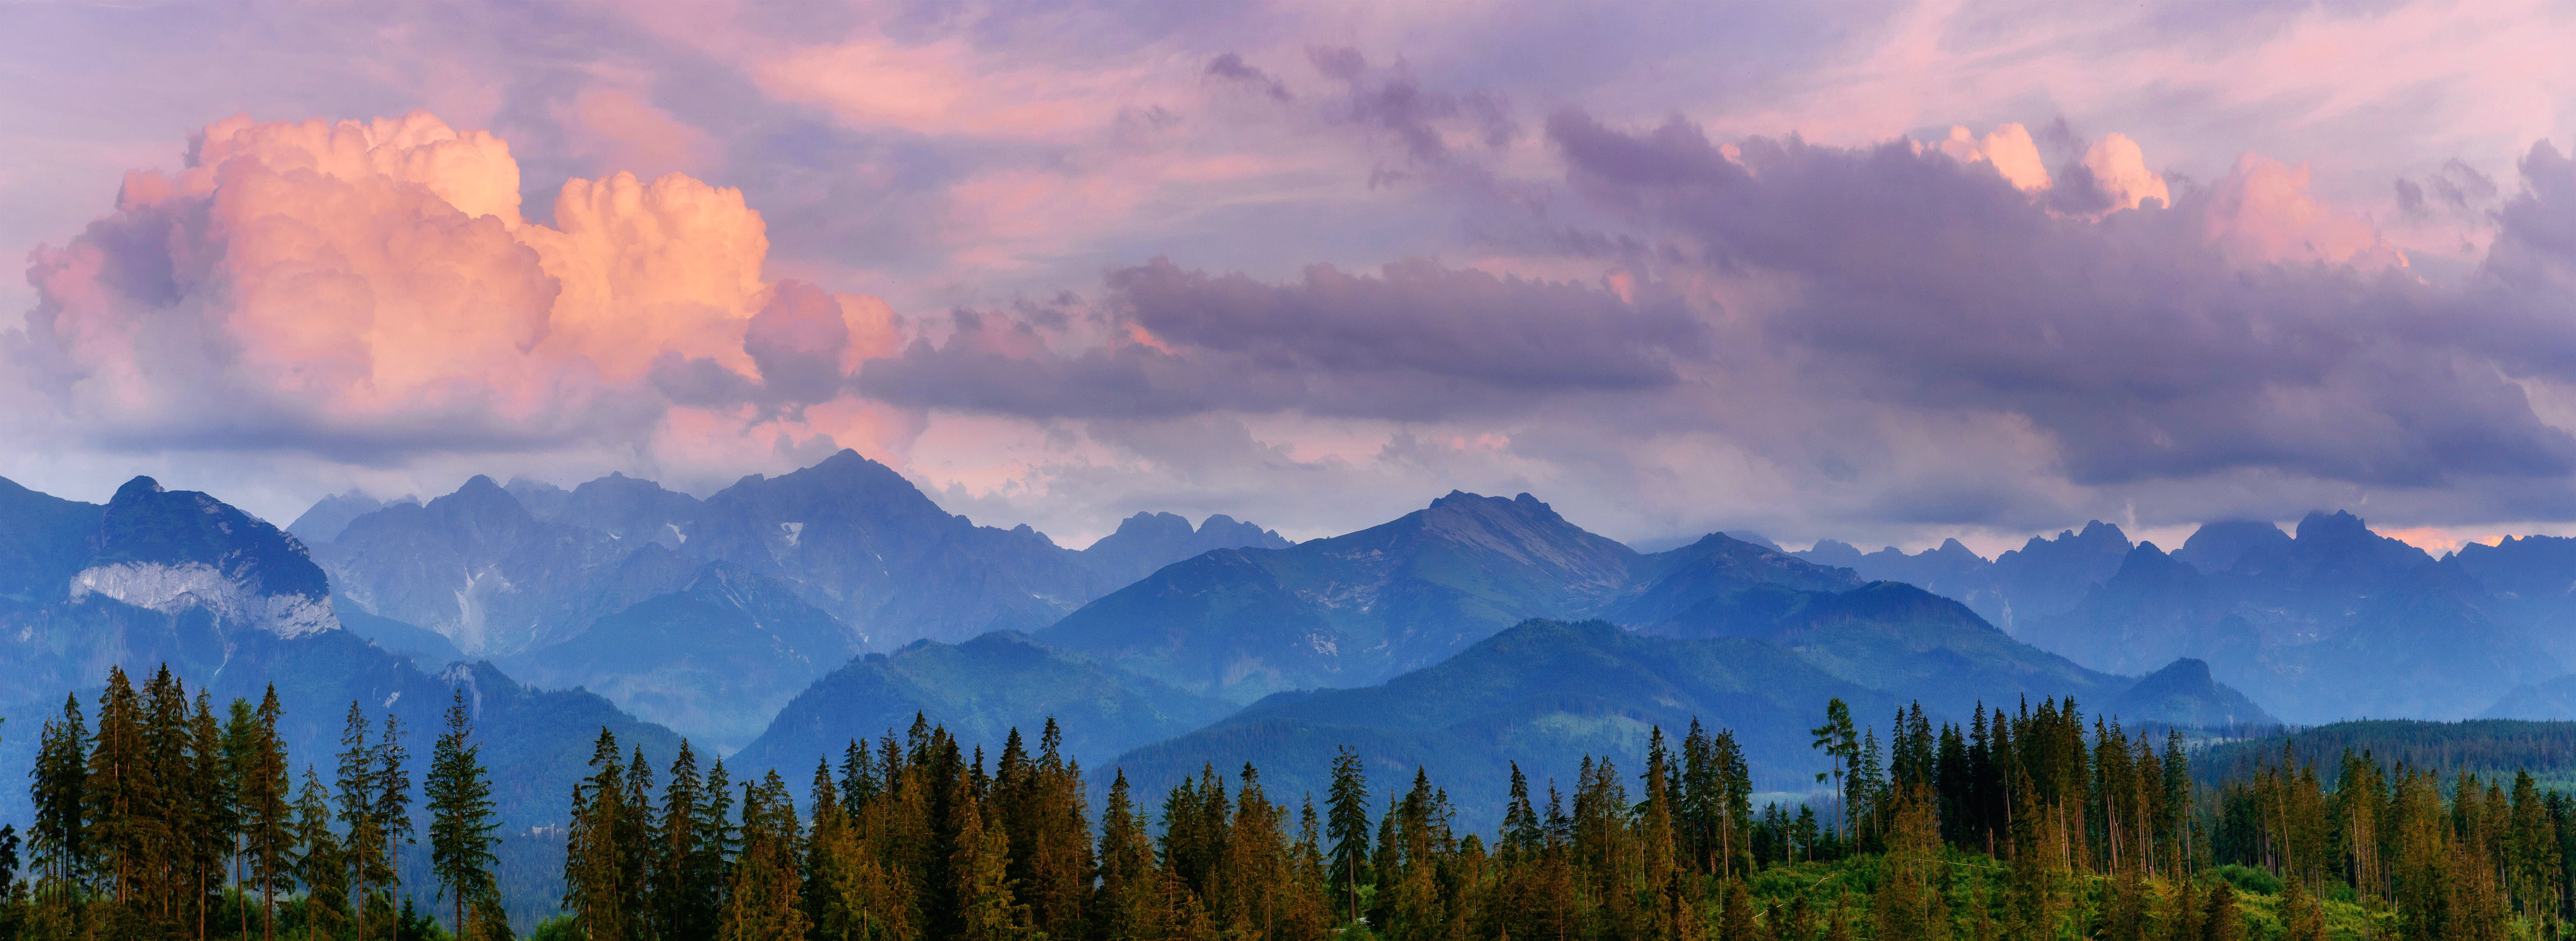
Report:
[{"label": "leftmost dark blue mountain with whitish bare rock face, down to the trees", "polygon": [[[165,665],[216,709],[276,686],[289,755],[325,766],[350,704],[371,722],[397,717],[412,755],[428,755],[451,694],[471,681],[484,691],[474,699],[492,742],[484,761],[513,781],[495,794],[513,828],[562,817],[580,761],[567,768],[559,755],[587,755],[600,727],[665,761],[677,742],[590,694],[536,694],[489,665],[428,673],[376,647],[340,624],[332,585],[296,536],[204,492],[137,477],[100,508],[0,482],[0,534],[23,549],[0,562],[15,588],[0,598],[10,675],[0,717],[26,730],[0,737],[8,768],[28,766],[33,730],[62,714],[67,691],[95,712],[108,670],[142,686]],[[0,817],[26,815],[26,789],[0,789]]]}]

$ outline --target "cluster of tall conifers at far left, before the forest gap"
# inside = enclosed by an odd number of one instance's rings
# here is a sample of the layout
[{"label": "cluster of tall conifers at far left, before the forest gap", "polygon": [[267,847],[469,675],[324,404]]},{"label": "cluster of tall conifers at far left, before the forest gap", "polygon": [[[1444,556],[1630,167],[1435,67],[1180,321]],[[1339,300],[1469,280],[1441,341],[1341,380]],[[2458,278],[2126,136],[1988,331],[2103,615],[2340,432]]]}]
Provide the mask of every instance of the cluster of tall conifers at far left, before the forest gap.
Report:
[{"label": "cluster of tall conifers at far left, before the forest gap", "polygon": [[[108,668],[95,727],[80,696],[44,724],[28,791],[26,879],[0,931],[23,938],[410,938],[394,869],[412,843],[399,719],[350,704],[330,781],[278,737],[278,691],[216,717],[162,668],[134,688]],[[466,936],[507,936],[492,892],[489,776],[459,694],[428,779],[433,866]],[[8,859],[15,864],[15,859]],[[13,866],[10,866],[13,869]],[[402,897],[402,907],[397,907]]]}]

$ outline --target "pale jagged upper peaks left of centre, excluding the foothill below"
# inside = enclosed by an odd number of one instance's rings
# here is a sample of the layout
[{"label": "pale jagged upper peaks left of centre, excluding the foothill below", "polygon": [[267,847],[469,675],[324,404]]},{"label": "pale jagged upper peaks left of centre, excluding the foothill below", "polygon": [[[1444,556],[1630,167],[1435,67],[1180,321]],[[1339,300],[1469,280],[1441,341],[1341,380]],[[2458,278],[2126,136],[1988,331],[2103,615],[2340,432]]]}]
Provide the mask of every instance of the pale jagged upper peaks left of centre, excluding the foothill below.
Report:
[{"label": "pale jagged upper peaks left of centre, excluding the foothill below", "polygon": [[1072,552],[1028,526],[974,526],[894,469],[840,451],[706,500],[623,474],[572,490],[474,477],[428,505],[353,518],[317,557],[371,614],[438,632],[469,655],[526,657],[685,588],[706,562],[788,585],[853,645],[886,650],[1041,629],[1139,570],[1244,544],[1285,541],[1221,516],[1193,531],[1164,513]]}]

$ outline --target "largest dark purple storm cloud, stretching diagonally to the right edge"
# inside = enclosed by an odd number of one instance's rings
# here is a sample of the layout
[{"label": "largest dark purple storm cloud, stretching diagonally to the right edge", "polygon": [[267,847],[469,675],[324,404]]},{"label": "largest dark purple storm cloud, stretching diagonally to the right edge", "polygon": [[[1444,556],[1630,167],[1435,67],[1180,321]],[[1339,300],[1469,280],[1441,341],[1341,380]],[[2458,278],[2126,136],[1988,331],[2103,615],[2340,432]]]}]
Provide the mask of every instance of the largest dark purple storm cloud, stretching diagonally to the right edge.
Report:
[{"label": "largest dark purple storm cloud, stretching diagonally to the right edge", "polygon": [[[1747,139],[1728,160],[1687,121],[1623,131],[1579,111],[1548,137],[1577,191],[1625,209],[1682,266],[1793,276],[1795,299],[1747,330],[1806,356],[1811,392],[2022,415],[2079,485],[2259,467],[2424,487],[2576,469],[2576,441],[2499,371],[2496,338],[2460,330],[2494,312],[2403,271],[2239,266],[2205,235],[2208,188],[2092,222],[1904,142]],[[2550,160],[2535,150],[2527,175]],[[2532,217],[2535,232],[2566,219]]]}]

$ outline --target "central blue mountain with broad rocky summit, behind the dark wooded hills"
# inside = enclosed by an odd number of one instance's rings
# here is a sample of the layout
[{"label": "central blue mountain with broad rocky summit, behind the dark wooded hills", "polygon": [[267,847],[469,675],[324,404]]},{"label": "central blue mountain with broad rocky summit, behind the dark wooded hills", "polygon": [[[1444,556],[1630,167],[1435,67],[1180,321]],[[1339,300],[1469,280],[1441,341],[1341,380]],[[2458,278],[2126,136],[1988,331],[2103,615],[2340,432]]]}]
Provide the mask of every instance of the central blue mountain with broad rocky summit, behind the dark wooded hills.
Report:
[{"label": "central blue mountain with broad rocky summit, behind the dark wooded hills", "polygon": [[1850,688],[1955,714],[2009,696],[2102,701],[2133,683],[2012,639],[1914,585],[1868,583],[1726,534],[1638,554],[1535,498],[1466,492],[1350,536],[1164,567],[1038,639],[1252,701],[1386,683],[1530,619],[1759,639]]}]

